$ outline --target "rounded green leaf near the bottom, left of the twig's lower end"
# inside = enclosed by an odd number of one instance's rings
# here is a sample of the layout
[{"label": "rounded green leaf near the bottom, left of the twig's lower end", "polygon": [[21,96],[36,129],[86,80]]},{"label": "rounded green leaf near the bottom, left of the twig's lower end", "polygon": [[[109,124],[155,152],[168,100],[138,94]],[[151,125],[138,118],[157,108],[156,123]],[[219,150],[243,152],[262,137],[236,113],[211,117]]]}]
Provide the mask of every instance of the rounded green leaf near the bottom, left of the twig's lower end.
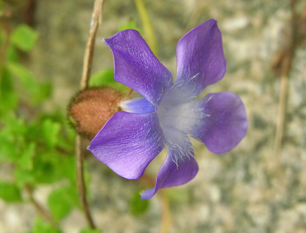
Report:
[{"label": "rounded green leaf near the bottom, left of the twig's lower end", "polygon": [[48,206],[56,220],[65,217],[73,207],[68,188],[62,186],[53,190],[48,197]]}]

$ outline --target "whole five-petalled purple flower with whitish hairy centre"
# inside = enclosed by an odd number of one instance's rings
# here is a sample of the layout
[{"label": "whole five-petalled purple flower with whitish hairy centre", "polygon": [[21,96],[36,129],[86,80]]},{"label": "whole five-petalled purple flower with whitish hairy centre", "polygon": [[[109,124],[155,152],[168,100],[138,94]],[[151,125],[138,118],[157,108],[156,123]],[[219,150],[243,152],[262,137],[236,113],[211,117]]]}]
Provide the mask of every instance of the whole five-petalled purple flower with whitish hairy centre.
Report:
[{"label": "whole five-petalled purple flower with whitish hairy centre", "polygon": [[177,44],[177,77],[154,56],[138,31],[120,31],[104,40],[114,55],[114,78],[144,98],[121,103],[91,141],[89,150],[118,175],[141,177],[167,146],[167,156],[151,198],[160,188],[185,184],[198,171],[188,136],[215,153],[230,151],[244,137],[248,122],[240,98],[230,92],[195,99],[226,71],[221,33],[215,20],[195,27]]}]

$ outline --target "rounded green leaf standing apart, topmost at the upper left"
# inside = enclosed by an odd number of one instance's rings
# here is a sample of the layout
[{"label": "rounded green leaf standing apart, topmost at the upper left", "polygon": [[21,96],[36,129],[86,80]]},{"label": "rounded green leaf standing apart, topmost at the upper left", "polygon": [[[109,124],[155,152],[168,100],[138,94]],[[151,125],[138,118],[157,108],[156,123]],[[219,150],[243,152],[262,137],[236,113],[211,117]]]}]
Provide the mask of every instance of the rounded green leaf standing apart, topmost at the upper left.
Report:
[{"label": "rounded green leaf standing apart, topmost at the upper left", "polygon": [[22,51],[28,52],[31,50],[37,39],[38,32],[26,24],[20,24],[11,34],[11,43]]}]

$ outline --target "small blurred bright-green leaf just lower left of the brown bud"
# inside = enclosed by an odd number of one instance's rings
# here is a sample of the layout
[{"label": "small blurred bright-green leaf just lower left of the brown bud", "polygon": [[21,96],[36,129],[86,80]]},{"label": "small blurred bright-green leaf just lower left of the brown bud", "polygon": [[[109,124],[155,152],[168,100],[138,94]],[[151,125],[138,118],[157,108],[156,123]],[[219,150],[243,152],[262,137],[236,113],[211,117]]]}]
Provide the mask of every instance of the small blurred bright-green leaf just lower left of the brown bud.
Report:
[{"label": "small blurred bright-green leaf just lower left of the brown bud", "polygon": [[61,130],[61,124],[47,118],[43,121],[42,130],[47,147],[54,147],[58,142],[58,134]]}]

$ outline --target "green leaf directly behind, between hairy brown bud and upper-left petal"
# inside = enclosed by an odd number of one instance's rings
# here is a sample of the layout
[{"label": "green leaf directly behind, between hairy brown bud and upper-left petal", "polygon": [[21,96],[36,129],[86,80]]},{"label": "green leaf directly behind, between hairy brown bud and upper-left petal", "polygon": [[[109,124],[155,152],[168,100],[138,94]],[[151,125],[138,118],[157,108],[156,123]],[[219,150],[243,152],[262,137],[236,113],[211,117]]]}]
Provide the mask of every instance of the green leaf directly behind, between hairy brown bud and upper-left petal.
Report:
[{"label": "green leaf directly behind, between hairy brown bud and upper-left petal", "polygon": [[122,92],[127,92],[129,88],[114,79],[114,69],[105,69],[95,73],[89,80],[89,86],[110,86]]}]

